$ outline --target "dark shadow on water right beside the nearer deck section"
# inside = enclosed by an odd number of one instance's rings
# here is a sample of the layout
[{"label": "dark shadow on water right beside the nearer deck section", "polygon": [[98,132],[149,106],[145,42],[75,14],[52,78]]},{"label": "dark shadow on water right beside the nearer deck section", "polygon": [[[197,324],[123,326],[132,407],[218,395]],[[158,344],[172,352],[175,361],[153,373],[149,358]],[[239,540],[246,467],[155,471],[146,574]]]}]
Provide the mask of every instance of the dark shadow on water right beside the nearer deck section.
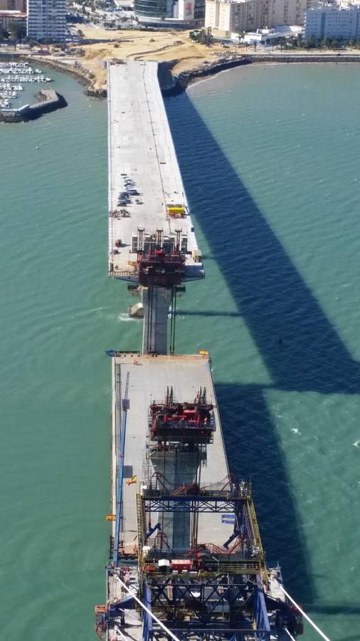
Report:
[{"label": "dark shadow on water right beside the nearer deck section", "polygon": [[261,538],[269,562],[279,561],[297,599],[314,598],[306,541],[297,516],[285,460],[263,390],[216,384],[216,397],[232,471],[253,481]]}]

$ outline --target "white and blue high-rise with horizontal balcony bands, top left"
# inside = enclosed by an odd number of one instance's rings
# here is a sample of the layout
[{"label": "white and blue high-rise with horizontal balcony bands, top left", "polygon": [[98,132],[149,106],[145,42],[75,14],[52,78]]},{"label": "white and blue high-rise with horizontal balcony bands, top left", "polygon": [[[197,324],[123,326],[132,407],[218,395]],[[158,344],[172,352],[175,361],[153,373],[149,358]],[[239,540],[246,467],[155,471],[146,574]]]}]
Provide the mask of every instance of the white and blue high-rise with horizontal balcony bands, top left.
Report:
[{"label": "white and blue high-rise with horizontal balcony bands, top left", "polygon": [[38,41],[65,40],[65,0],[27,0],[27,35]]}]

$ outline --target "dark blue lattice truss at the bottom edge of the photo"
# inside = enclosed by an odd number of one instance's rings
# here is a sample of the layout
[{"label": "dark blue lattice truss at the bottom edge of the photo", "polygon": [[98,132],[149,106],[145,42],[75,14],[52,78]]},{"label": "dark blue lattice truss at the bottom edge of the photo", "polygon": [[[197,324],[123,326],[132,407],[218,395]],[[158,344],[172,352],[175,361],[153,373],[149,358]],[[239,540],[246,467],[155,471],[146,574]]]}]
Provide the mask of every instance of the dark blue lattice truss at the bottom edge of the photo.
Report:
[{"label": "dark blue lattice truss at the bottom edge of the photo", "polygon": [[[144,582],[143,600],[179,641],[270,641],[260,576],[152,578]],[[144,641],[169,641],[157,622],[145,619]]]}]

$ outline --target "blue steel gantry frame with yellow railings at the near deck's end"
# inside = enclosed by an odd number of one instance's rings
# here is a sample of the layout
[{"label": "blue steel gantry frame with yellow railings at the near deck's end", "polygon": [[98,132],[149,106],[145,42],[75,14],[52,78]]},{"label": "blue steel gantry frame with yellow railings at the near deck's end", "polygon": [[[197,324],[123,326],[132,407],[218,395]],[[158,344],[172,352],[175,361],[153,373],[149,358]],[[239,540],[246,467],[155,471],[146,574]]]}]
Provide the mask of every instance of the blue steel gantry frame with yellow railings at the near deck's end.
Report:
[{"label": "blue steel gantry frame with yellow railings at the near deck's end", "polygon": [[[232,477],[222,489],[201,488],[195,484],[166,488],[166,481],[154,475],[154,486],[138,495],[140,585],[147,608],[168,627],[180,641],[270,641],[282,639],[285,625],[296,635],[296,613],[289,604],[264,593],[268,568],[260,541],[258,523],[251,497],[251,486]],[[157,513],[226,512],[233,515],[234,541],[223,548],[206,545],[186,551],[145,548],[147,515]],[[231,514],[228,514],[231,512]],[[246,543],[245,543],[246,541]],[[183,558],[191,562],[193,572],[162,574],[156,568],[157,558]],[[179,561],[177,561],[179,563]],[[144,615],[143,641],[165,641],[166,633],[156,622]]]}]

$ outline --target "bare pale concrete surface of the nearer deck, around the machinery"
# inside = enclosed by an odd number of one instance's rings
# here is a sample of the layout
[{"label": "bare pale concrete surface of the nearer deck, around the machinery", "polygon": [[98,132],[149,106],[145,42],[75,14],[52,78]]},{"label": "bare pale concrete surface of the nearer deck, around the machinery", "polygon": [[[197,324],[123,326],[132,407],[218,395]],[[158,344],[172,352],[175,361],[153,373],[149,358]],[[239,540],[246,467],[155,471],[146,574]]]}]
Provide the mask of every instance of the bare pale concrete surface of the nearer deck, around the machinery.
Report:
[{"label": "bare pale concrete surface of the nearer deck, around the machinery", "polygon": [[[137,364],[135,364],[137,363]],[[120,539],[125,542],[127,551],[136,546],[137,540],[137,509],[136,492],[142,480],[142,465],[145,454],[145,439],[148,430],[149,405],[152,400],[163,400],[167,385],[172,385],[176,400],[193,400],[199,387],[206,386],[208,402],[215,406],[214,417],[216,432],[213,443],[207,446],[205,464],[201,467],[201,485],[213,484],[228,476],[228,463],[223,444],[216,397],[208,358],[202,355],[191,356],[157,356],[121,355],[113,359],[113,437],[117,434],[117,442],[121,424],[121,400],[125,394],[127,373],[129,372],[129,410],[127,410],[127,427],[125,439],[125,474],[123,482],[123,514],[124,528]],[[112,459],[113,471],[117,470],[115,448]],[[158,467],[164,472],[169,481],[176,484],[191,482],[195,463],[193,454],[181,454],[174,462],[169,457],[166,467]],[[137,474],[137,485],[126,485],[126,479]],[[112,509],[116,511],[116,479],[112,475]],[[152,515],[153,525],[161,515]],[[179,518],[183,523],[179,526]],[[176,546],[189,547],[189,514],[176,513],[178,522],[177,532],[174,532],[172,515],[166,514],[163,522],[164,531],[169,541]],[[115,524],[114,524],[115,525]],[[175,526],[174,526],[175,528]],[[216,543],[221,546],[233,531],[233,526],[221,523],[221,514],[199,514],[198,543]],[[175,540],[176,539],[176,540]]]}]

